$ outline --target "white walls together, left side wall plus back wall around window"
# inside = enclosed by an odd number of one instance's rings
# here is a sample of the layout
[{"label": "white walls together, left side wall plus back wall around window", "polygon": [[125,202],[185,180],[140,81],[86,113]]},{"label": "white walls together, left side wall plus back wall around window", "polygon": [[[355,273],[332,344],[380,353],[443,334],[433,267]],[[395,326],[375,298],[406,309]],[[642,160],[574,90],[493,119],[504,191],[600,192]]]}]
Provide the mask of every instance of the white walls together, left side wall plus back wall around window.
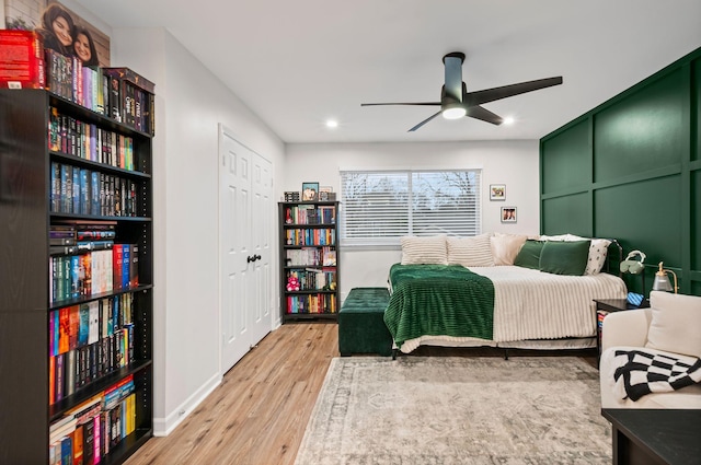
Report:
[{"label": "white walls together, left side wall plus back wall around window", "polygon": [[[299,190],[304,181],[319,181],[338,191],[340,167],[481,167],[485,198],[489,198],[490,184],[506,184],[507,188],[506,202],[484,200],[483,230],[538,232],[538,141],[285,147],[166,31],[110,30],[80,4],[72,0],[64,3],[111,36],[112,66],[133,68],[156,83],[153,416],[157,435],[170,432],[222,376],[218,336],[219,123],[273,162],[273,186],[278,198],[284,190]],[[518,223],[501,224],[498,212],[503,205],[518,207]],[[276,218],[276,211],[271,214]],[[398,259],[399,248],[344,251],[342,298],[353,287],[384,286],[389,266]],[[273,265],[277,289],[277,261]],[[278,315],[279,309],[274,316]]]}]

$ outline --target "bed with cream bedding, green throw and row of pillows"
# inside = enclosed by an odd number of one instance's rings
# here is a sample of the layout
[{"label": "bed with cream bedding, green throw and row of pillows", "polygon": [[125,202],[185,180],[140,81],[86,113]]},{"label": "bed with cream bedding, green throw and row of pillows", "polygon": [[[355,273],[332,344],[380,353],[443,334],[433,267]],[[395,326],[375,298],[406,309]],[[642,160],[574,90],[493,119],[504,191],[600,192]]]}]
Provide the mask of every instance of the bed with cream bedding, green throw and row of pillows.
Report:
[{"label": "bed with cream bedding, green throw and row of pillows", "polygon": [[594,299],[627,295],[620,276],[606,272],[620,255],[616,241],[571,235],[403,237],[384,322],[404,353],[424,345],[593,348]]}]

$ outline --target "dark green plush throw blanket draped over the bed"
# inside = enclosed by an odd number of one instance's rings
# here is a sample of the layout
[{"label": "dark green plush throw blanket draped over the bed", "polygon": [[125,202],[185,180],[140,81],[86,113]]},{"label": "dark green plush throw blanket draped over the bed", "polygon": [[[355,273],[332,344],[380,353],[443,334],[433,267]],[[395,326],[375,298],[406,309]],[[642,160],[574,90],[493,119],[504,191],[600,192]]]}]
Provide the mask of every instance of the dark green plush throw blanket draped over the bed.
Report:
[{"label": "dark green plush throw blanket draped over the bed", "polygon": [[394,264],[390,282],[384,323],[397,347],[420,336],[492,339],[494,284],[489,278],[462,266]]}]

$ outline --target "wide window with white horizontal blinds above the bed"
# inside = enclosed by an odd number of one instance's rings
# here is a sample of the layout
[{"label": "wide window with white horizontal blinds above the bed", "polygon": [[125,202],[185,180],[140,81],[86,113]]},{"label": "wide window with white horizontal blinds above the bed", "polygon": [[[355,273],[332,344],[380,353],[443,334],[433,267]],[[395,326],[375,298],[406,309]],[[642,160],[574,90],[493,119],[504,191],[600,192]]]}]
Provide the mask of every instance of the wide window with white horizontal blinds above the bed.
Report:
[{"label": "wide window with white horizontal blinds above the bed", "polygon": [[343,245],[398,245],[403,235],[478,235],[479,170],[342,171]]}]

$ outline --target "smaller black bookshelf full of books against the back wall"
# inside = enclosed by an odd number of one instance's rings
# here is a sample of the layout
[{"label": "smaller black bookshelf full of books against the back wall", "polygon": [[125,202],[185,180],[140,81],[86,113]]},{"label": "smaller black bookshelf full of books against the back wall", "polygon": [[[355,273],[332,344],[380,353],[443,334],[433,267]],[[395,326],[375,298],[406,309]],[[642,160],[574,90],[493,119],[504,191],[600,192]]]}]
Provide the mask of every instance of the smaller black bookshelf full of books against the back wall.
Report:
[{"label": "smaller black bookshelf full of books against the back wall", "polygon": [[[338,206],[337,201],[278,204],[283,323],[337,319]],[[297,279],[298,288],[288,286],[290,278]]]}]

